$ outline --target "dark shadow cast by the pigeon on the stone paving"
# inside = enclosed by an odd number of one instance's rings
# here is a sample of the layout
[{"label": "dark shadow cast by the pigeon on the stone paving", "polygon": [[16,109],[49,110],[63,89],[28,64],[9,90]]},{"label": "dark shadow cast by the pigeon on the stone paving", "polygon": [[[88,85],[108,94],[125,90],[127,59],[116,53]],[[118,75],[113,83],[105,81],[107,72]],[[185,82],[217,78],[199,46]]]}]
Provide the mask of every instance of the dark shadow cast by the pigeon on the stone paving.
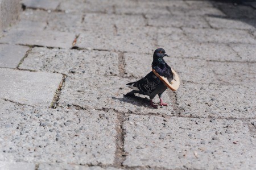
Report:
[{"label": "dark shadow cast by the pigeon on the stone paving", "polygon": [[126,103],[131,103],[132,105],[136,105],[139,107],[146,107],[152,109],[150,106],[150,99],[147,97],[140,97],[140,96],[127,96],[123,94],[123,98],[117,98],[117,97],[112,97],[112,99],[117,99],[120,102],[126,102]]}]

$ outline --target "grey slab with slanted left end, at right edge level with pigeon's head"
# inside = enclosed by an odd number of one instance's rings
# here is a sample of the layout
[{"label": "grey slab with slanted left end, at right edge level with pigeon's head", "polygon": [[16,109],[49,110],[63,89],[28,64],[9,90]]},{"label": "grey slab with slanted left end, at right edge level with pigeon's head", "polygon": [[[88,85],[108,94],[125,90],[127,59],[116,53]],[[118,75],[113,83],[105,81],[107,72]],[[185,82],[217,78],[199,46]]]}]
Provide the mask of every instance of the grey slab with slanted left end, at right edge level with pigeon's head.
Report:
[{"label": "grey slab with slanted left end, at right edge level with pigeon's head", "polygon": [[256,61],[256,44],[230,44],[230,47],[238,53],[242,60]]}]

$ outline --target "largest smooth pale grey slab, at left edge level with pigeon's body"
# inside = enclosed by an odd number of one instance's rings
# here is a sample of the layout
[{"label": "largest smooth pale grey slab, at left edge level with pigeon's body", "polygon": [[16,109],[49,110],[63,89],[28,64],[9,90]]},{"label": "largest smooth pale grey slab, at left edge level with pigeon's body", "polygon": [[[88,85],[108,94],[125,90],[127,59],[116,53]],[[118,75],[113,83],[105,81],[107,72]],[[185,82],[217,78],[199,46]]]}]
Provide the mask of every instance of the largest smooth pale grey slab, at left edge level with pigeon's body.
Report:
[{"label": "largest smooth pale grey slab, at left edge level with pigeon's body", "polygon": [[50,106],[62,74],[0,68],[0,98],[27,105]]}]

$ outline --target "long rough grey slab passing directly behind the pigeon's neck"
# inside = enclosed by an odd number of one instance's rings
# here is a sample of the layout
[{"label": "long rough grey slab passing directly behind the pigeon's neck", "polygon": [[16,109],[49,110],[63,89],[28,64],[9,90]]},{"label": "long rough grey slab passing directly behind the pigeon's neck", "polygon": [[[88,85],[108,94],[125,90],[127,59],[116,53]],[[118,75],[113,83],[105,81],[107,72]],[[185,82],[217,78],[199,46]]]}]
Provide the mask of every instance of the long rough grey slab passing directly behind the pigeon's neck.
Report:
[{"label": "long rough grey slab passing directly behind the pigeon's neck", "polygon": [[[167,49],[166,53],[169,55]],[[125,53],[125,77],[144,77],[151,71],[152,55]],[[180,81],[237,84],[255,84],[255,64],[214,62],[195,58],[164,57],[164,60],[180,77]]]}]

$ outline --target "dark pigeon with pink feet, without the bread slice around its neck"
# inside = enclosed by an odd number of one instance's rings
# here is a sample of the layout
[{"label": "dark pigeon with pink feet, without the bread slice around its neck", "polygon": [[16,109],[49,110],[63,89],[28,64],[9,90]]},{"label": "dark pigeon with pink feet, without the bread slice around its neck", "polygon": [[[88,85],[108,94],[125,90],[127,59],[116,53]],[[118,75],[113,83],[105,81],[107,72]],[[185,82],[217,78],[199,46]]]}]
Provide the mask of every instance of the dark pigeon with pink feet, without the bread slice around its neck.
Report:
[{"label": "dark pigeon with pink feet, without the bread slice around its neck", "polygon": [[[171,67],[164,61],[163,57],[168,55],[163,48],[158,48],[155,50],[153,55],[152,69],[155,69],[156,73],[160,76],[166,77],[169,82],[174,78]],[[157,108],[152,99],[158,94],[160,99],[160,106],[167,106],[162,100],[162,94],[167,89],[167,86],[155,76],[154,72],[148,73],[141,80],[136,82],[130,82],[128,84],[129,88],[133,89],[131,92],[125,94],[127,96],[134,96],[135,93],[147,95],[150,97],[150,106]]]}]

